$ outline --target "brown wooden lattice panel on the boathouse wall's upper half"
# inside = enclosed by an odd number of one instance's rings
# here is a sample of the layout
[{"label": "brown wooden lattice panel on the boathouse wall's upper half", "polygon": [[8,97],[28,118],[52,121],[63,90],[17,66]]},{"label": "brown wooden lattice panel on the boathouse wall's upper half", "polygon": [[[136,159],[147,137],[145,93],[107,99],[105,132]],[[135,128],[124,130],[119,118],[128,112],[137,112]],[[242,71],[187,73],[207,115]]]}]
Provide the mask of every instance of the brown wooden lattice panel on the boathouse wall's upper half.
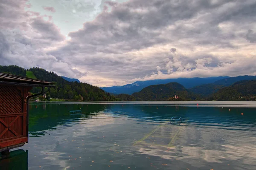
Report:
[{"label": "brown wooden lattice panel on the boathouse wall's upper half", "polygon": [[21,113],[22,97],[15,86],[0,85],[0,114]]}]

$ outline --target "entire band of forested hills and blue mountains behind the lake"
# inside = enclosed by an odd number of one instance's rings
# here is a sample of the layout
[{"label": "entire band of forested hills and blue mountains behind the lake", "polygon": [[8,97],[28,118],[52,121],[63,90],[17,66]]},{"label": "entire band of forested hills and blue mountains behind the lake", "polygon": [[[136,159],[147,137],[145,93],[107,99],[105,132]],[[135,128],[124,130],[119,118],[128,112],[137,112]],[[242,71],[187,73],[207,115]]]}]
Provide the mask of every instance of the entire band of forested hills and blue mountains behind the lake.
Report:
[{"label": "entire band of forested hills and blue mountains behind the lake", "polygon": [[[93,100],[256,100],[256,76],[180,78],[166,80],[137,81],[125,86],[113,86],[130,94],[106,92],[87,83],[67,81],[54,72],[42,68],[24,69],[16,65],[2,66],[0,72],[42,79],[55,83],[55,88],[45,88],[44,93],[52,98]],[[172,81],[172,82],[169,82]],[[176,82],[173,82],[176,81]],[[168,83],[165,83],[168,82]],[[178,83],[180,82],[180,83]],[[210,82],[210,83],[209,83]],[[148,85],[163,83],[158,85]],[[205,83],[205,84],[204,84]],[[148,85],[148,86],[147,86]],[[146,86],[146,87],[144,87]],[[137,88],[136,88],[137,87]],[[128,89],[128,90],[127,90]],[[33,88],[38,93],[41,88]],[[174,96],[179,96],[176,99]],[[48,97],[49,98],[49,97]]]}]

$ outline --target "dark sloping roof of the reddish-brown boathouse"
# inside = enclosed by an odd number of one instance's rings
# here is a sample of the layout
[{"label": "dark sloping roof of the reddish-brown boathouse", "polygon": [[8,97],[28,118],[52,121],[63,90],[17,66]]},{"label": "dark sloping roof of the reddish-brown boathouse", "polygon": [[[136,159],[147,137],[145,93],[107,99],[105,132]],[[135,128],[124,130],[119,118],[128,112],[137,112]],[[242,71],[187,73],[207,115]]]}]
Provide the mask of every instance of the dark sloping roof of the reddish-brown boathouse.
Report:
[{"label": "dark sloping roof of the reddish-brown boathouse", "polygon": [[39,80],[39,79],[31,79],[28,77],[16,76],[13,74],[0,73],[0,84],[51,87],[51,86],[53,86],[54,83]]}]

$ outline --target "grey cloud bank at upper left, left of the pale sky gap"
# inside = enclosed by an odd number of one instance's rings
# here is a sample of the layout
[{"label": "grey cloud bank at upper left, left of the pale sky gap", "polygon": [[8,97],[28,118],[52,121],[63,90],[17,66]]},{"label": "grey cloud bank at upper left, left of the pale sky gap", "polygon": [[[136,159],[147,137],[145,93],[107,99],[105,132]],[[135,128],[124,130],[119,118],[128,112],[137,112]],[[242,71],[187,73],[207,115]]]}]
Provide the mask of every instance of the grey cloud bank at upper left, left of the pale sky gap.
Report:
[{"label": "grey cloud bank at upper left, left of the pale sky gap", "polygon": [[52,23],[52,16],[25,10],[30,7],[27,2],[0,1],[0,64],[41,67],[69,77],[85,76],[86,73],[47,54],[45,49],[55,47],[65,37]]}]

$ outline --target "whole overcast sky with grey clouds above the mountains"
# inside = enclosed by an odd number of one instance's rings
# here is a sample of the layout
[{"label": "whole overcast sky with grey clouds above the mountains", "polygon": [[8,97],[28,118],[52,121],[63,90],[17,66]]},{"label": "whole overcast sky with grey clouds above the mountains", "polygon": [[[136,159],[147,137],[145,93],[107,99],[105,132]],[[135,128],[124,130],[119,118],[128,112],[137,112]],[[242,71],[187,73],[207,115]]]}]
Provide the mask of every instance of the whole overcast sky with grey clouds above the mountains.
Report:
[{"label": "whole overcast sky with grey clouds above the mountains", "polygon": [[0,0],[0,65],[99,87],[256,75],[256,0]]}]

